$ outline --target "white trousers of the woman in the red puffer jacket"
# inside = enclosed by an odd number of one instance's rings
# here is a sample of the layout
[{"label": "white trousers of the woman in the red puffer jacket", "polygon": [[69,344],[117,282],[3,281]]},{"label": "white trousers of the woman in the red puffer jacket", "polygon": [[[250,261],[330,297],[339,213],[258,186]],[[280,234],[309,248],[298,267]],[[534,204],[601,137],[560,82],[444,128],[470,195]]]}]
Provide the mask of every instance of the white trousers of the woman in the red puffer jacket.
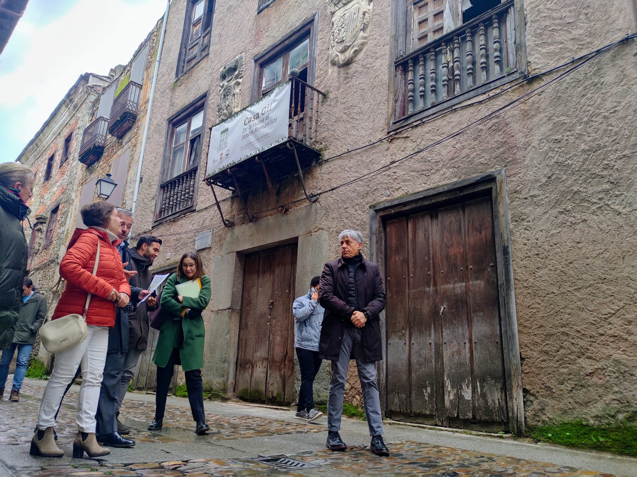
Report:
[{"label": "white trousers of the woman in the red puffer jacket", "polygon": [[55,413],[64,397],[64,390],[81,365],[82,386],[75,420],[80,431],[95,432],[99,388],[108,350],[108,328],[94,325],[87,328],[89,333],[82,343],[55,354],[53,373],[45,387],[38,413],[38,429],[41,431],[55,426]]}]

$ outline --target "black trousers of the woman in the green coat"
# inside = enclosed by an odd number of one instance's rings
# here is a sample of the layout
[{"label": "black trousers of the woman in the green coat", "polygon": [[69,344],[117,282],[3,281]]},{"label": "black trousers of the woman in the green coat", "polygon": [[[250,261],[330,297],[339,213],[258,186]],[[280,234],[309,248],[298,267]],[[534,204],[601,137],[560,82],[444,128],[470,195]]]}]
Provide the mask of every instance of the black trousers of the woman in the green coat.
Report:
[{"label": "black trousers of the woman in the green coat", "polygon": [[[173,348],[173,354],[168,359],[166,368],[157,366],[157,388],[155,389],[155,419],[163,420],[166,411],[166,397],[168,397],[168,388],[173,378],[175,370],[175,362],[179,358],[179,350]],[[205,422],[206,413],[203,409],[203,380],[201,379],[201,370],[185,371],[186,389],[188,391],[188,400],[190,401],[190,411],[195,422]]]}]

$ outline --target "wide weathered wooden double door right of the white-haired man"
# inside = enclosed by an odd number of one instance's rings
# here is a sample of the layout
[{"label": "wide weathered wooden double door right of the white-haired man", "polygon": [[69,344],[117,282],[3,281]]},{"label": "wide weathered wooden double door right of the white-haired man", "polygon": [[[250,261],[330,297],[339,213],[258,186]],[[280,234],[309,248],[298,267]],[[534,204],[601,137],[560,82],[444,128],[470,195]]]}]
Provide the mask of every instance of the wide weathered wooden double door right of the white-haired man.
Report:
[{"label": "wide weathered wooden double door right of the white-haired man", "polygon": [[491,196],[390,219],[387,413],[508,429]]}]

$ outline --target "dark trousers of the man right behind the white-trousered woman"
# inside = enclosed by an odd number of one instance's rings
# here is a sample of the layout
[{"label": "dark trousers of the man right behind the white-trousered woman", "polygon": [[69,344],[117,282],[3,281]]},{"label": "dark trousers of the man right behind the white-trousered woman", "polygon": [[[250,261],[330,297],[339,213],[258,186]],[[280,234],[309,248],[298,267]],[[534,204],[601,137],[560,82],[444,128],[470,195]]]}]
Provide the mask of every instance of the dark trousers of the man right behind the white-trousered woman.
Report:
[{"label": "dark trousers of the man right behind the white-trousered woman", "polygon": [[97,436],[117,432],[117,397],[120,391],[122,372],[124,371],[125,353],[108,353],[104,363],[104,377],[102,387],[99,389],[99,401],[97,401]]}]

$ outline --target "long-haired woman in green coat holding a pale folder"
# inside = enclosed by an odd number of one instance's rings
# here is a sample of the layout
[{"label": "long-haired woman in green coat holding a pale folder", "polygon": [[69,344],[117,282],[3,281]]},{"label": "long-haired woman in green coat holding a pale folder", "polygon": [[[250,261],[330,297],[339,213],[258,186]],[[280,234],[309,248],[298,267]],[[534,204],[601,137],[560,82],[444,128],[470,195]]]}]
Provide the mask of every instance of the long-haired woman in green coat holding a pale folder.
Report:
[{"label": "long-haired woman in green coat holding a pale folder", "polygon": [[[190,280],[199,280],[201,290],[197,298],[181,296],[176,286]],[[201,317],[210,301],[210,277],[203,270],[201,256],[195,251],[185,252],[179,261],[177,273],[168,277],[161,293],[163,322],[157,338],[153,363],[157,364],[155,389],[155,418],[148,431],[159,431],[164,420],[168,387],[173,378],[175,364],[181,364],[186,375],[186,389],[192,418],[200,436],[210,431],[203,409],[203,346],[206,329]]]}]

